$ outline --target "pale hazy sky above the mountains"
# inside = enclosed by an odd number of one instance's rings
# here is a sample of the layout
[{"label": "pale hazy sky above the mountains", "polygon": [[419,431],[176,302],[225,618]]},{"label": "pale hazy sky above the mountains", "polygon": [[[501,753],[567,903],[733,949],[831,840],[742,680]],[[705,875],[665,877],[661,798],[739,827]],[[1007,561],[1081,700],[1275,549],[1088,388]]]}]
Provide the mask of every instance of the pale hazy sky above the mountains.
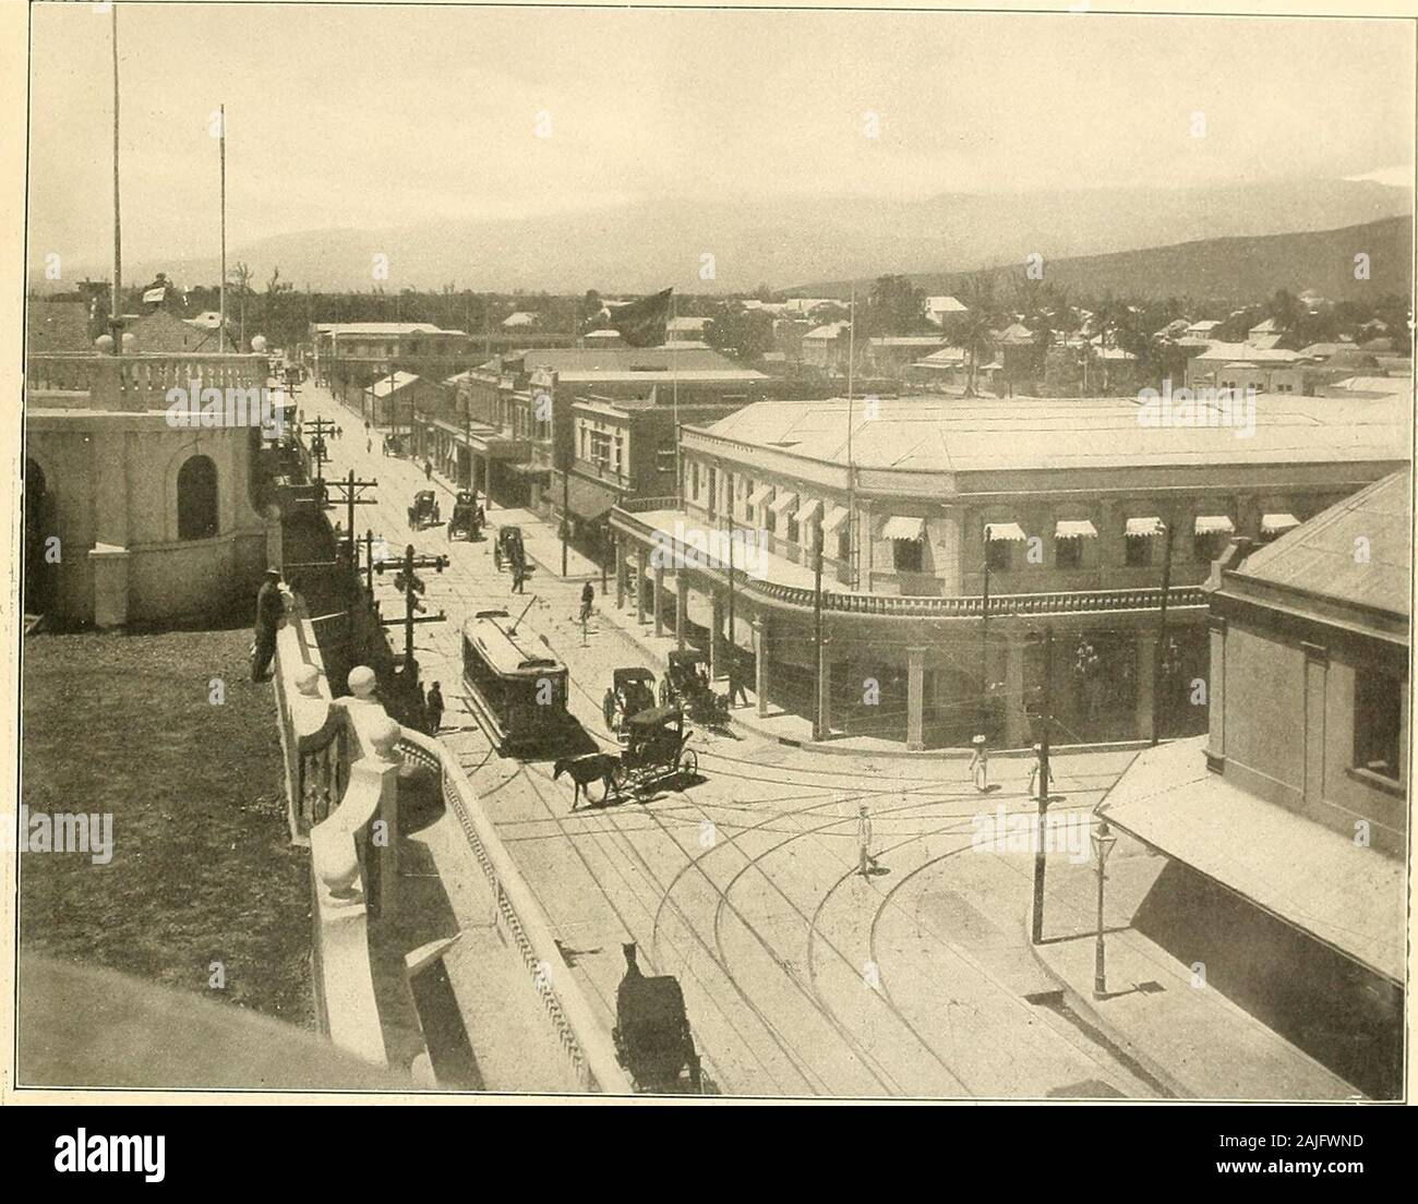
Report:
[{"label": "pale hazy sky above the mountains", "polygon": [[[104,262],[109,16],[31,11],[31,261]],[[220,102],[231,247],[710,190],[1401,183],[1414,147],[1400,21],[121,4],[119,52],[133,260],[214,254]]]}]

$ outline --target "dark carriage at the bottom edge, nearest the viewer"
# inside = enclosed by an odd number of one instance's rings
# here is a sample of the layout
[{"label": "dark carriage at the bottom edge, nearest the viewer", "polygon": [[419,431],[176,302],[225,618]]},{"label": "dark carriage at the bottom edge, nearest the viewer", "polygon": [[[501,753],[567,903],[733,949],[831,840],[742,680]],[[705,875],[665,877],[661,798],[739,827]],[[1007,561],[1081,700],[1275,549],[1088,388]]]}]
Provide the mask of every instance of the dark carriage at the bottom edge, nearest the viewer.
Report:
[{"label": "dark carriage at the bottom edge, nearest the viewer", "polygon": [[695,1034],[685,1011],[679,980],[669,974],[648,977],[635,960],[635,946],[623,946],[625,977],[615,988],[615,1061],[630,1072],[637,1091],[703,1091],[703,1074]]}]

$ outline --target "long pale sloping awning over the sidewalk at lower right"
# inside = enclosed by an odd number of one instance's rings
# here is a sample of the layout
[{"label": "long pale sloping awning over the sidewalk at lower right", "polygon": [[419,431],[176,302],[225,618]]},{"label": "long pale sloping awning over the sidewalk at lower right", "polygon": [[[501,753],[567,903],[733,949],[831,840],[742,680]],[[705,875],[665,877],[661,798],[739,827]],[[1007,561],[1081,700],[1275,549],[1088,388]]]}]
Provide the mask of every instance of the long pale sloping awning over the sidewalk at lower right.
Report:
[{"label": "long pale sloping awning over the sidewalk at lower right", "polygon": [[1404,865],[1210,773],[1207,737],[1144,749],[1098,814],[1293,927],[1404,980]]}]

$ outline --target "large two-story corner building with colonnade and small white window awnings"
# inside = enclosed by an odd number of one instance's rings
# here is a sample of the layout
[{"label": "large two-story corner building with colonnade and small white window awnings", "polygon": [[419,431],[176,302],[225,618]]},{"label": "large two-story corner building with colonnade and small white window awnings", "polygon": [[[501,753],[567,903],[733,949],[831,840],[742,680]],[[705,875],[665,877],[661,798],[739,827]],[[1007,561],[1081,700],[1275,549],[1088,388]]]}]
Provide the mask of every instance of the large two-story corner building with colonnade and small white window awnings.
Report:
[{"label": "large two-story corner building with colonnade and small white window awnings", "polygon": [[1405,464],[1408,404],[1268,396],[1246,428],[1160,425],[1129,398],[764,401],[681,430],[681,505],[611,512],[617,579],[720,672],[752,665],[760,708],[821,732],[949,746],[984,716],[997,745],[1027,746],[1046,628],[1056,742],[1150,735],[1159,661],[1161,730],[1198,732],[1200,584],[1221,545],[1275,537]]}]

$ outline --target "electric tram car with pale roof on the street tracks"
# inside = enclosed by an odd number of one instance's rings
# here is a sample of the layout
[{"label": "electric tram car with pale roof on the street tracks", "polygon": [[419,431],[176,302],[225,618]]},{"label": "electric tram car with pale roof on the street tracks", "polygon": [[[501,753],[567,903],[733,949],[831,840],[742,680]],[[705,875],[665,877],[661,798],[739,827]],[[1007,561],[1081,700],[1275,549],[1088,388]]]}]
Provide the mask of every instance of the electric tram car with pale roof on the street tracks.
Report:
[{"label": "electric tram car with pale roof on the street tracks", "polygon": [[523,644],[505,610],[482,610],[462,628],[462,678],[474,718],[499,752],[560,740],[567,710],[566,665]]}]

